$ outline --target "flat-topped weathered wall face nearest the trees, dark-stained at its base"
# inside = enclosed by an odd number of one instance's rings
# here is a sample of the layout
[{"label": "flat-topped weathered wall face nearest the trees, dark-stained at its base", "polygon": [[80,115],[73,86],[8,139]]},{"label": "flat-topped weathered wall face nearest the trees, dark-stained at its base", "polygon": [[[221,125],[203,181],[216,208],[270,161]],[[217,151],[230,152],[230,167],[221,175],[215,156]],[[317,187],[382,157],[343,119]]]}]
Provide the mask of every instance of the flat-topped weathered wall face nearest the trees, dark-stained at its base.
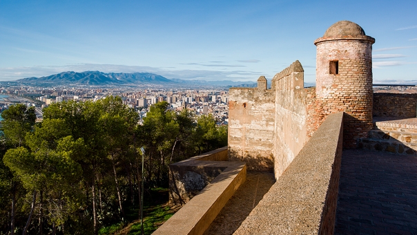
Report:
[{"label": "flat-topped weathered wall face nearest the trees, dark-stained at its base", "polygon": [[271,89],[229,90],[229,160],[248,169],[273,169],[275,97]]}]

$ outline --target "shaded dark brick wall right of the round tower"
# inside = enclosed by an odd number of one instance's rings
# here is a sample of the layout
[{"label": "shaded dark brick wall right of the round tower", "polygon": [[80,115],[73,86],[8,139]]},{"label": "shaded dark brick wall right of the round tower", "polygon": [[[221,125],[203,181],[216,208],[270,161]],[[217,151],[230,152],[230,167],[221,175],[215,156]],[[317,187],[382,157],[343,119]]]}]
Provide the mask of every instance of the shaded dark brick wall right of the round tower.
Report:
[{"label": "shaded dark brick wall right of the round tower", "polygon": [[374,93],[374,117],[417,117],[417,94]]}]

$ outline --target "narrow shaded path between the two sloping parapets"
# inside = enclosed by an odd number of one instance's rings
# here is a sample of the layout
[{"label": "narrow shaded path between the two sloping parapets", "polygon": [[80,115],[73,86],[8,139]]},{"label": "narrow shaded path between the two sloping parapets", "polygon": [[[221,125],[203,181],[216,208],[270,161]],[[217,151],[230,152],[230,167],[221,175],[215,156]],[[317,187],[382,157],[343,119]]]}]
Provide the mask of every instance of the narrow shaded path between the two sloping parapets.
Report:
[{"label": "narrow shaded path between the two sloping parapets", "polygon": [[273,172],[247,171],[244,184],[226,203],[204,235],[233,234],[274,182]]}]

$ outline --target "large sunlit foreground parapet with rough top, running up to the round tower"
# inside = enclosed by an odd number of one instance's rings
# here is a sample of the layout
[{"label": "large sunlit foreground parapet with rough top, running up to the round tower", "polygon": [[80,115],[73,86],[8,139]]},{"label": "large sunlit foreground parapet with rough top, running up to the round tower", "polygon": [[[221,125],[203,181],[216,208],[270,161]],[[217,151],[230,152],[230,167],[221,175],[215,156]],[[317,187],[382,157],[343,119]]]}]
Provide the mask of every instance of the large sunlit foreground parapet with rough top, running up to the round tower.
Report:
[{"label": "large sunlit foreground parapet with rough top, running up to the round tower", "polygon": [[235,234],[333,234],[343,113],[329,115]]}]

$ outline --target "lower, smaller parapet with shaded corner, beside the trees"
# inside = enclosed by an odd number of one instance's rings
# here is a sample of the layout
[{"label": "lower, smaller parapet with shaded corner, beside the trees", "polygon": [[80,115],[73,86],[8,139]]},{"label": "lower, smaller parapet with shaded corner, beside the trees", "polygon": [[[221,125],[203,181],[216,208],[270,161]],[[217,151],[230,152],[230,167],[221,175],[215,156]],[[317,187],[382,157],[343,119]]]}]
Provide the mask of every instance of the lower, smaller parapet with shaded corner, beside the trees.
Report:
[{"label": "lower, smaller parapet with shaded corner, beside the trees", "polygon": [[[224,147],[170,165],[171,194],[176,194],[173,190],[181,189],[177,195],[182,195],[183,203],[187,200],[188,203],[153,234],[203,234],[206,231],[246,180],[246,164],[229,162],[227,158],[227,147]],[[193,191],[195,196],[187,192],[199,187],[202,191]]]}]

